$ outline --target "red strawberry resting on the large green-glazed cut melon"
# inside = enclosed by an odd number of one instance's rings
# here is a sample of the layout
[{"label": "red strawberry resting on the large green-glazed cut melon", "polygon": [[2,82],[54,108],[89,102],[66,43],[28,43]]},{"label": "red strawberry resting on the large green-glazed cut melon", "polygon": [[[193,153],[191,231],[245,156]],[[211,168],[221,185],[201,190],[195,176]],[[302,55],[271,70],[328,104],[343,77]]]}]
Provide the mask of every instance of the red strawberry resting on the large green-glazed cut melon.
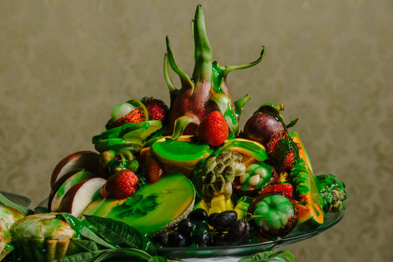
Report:
[{"label": "red strawberry resting on the large green-glazed cut melon", "polygon": [[137,187],[138,177],[134,172],[123,169],[110,176],[105,183],[105,195],[116,199],[124,199],[133,195]]}]

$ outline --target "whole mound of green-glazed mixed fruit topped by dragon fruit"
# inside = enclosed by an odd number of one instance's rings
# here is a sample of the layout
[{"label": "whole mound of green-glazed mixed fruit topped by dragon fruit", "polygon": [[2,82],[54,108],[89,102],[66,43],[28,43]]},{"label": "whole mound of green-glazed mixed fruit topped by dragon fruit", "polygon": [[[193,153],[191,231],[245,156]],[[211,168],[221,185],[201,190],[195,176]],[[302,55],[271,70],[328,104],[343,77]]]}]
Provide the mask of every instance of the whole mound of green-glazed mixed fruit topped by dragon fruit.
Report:
[{"label": "whole mound of green-glazed mixed fruit topped by dragon fruit", "polygon": [[285,236],[299,223],[318,227],[325,212],[343,208],[344,183],[314,175],[299,135],[288,131],[297,119],[285,124],[283,104],[261,105],[241,131],[251,96],[233,101],[226,85],[229,72],[258,64],[265,48],[252,63],[222,67],[212,60],[200,6],[192,26],[191,78],[167,37],[170,106],[153,97],[115,105],[106,130],[92,138],[97,152],[56,165],[48,212],[70,214],[77,232],[89,221],[116,221],[157,248],[241,245]]}]

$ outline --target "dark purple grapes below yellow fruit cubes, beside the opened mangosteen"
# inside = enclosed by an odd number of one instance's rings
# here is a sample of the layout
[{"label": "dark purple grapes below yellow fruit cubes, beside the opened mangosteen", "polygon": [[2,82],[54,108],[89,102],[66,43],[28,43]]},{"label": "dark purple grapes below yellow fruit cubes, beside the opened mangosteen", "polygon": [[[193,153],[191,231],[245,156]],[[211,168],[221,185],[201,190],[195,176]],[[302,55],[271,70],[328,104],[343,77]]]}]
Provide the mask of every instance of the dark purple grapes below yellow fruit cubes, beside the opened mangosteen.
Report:
[{"label": "dark purple grapes below yellow fruit cubes, beside the opened mangosteen", "polygon": [[237,213],[233,210],[212,213],[207,221],[216,232],[212,237],[212,244],[215,246],[245,244],[253,232],[250,223],[237,220]]}]

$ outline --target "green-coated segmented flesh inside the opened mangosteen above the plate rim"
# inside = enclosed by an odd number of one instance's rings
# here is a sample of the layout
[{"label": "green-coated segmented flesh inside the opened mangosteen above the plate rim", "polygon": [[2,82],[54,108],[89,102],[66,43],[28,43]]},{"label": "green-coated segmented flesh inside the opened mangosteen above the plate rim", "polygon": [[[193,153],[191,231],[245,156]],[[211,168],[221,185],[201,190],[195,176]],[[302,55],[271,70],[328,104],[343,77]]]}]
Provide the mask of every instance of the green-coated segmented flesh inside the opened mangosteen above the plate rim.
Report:
[{"label": "green-coated segmented flesh inside the opened mangosteen above the plate rim", "polygon": [[291,202],[282,195],[270,195],[261,198],[254,206],[253,215],[265,216],[256,218],[255,223],[263,229],[279,230],[294,215]]}]

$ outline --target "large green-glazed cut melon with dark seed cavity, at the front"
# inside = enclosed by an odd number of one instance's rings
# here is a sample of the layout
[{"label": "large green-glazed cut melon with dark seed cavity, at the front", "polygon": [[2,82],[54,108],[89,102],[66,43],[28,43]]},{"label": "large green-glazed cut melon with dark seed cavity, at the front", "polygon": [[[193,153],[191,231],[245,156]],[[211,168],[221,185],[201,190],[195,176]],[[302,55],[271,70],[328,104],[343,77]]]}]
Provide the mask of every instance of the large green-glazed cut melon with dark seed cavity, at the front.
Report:
[{"label": "large green-glazed cut melon with dark seed cavity, at the front", "polygon": [[174,227],[193,210],[194,185],[182,174],[168,174],[126,199],[104,198],[84,214],[124,222],[147,236]]}]

